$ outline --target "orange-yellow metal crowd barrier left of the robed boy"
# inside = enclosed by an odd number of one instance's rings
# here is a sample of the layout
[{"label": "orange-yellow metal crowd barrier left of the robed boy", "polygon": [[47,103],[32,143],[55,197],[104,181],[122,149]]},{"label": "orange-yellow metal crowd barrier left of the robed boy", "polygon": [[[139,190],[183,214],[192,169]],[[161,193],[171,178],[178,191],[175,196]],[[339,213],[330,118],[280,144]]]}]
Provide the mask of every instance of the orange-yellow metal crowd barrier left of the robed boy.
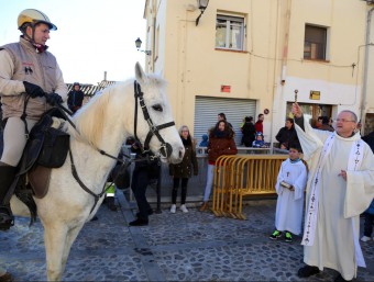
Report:
[{"label": "orange-yellow metal crowd barrier left of the robed boy", "polygon": [[288,155],[221,156],[216,161],[212,212],[245,219],[244,195],[273,194],[280,163]]}]

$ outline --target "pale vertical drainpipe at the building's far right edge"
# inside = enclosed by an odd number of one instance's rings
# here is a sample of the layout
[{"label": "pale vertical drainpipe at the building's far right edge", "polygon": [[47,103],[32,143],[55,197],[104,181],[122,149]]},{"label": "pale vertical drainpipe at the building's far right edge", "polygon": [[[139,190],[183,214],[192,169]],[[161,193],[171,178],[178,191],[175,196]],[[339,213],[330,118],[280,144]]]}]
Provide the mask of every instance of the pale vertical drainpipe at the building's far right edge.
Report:
[{"label": "pale vertical drainpipe at the building's far right edge", "polygon": [[[371,35],[371,23],[372,23],[372,13],[374,8],[367,11],[366,18],[366,40],[365,40],[365,64],[364,64],[364,78],[363,78],[363,86],[362,86],[362,99],[361,99],[361,124],[365,124],[366,117],[366,92],[367,92],[367,70],[369,70],[369,54],[370,54],[370,46],[373,43],[370,42]],[[362,127],[361,134],[365,134],[365,126]]]}]

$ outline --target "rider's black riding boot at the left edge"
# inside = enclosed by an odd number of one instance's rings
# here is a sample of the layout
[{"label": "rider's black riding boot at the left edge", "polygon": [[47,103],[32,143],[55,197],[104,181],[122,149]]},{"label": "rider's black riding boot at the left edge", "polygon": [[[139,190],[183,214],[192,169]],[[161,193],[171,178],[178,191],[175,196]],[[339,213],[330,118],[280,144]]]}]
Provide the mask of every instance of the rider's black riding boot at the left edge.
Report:
[{"label": "rider's black riding boot at the left edge", "polygon": [[15,167],[0,166],[0,230],[8,230],[14,225],[10,203],[6,203],[4,198],[14,180],[15,170]]}]

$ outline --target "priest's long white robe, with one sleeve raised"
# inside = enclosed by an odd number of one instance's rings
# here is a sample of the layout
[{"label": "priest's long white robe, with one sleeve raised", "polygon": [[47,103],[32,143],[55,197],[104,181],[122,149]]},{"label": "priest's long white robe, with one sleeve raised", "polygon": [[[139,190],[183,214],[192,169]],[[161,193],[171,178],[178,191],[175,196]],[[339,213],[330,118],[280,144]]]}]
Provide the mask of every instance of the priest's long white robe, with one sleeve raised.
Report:
[{"label": "priest's long white robe, with one sleeve raised", "polygon": [[[306,121],[304,126],[305,132],[295,124],[304,159],[309,165],[307,208],[323,143],[331,134],[336,135],[320,169],[314,244],[304,246],[304,261],[320,270],[323,267],[334,269],[345,280],[352,280],[356,277],[358,259],[362,253],[359,242],[360,214],[374,196],[374,155],[367,144],[362,143],[364,156],[360,168],[348,170],[352,145],[361,139],[360,134],[343,138],[336,132],[312,129]],[[339,176],[341,170],[346,170],[346,181]]]}]

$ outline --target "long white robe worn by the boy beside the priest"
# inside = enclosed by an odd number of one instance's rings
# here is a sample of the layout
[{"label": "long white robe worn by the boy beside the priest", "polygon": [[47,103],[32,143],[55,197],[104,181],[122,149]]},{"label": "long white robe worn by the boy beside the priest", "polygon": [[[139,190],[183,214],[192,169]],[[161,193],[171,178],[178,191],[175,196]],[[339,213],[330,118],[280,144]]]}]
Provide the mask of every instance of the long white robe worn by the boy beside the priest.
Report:
[{"label": "long white robe worn by the boy beside the priest", "polygon": [[[295,191],[280,185],[285,181],[294,185]],[[288,230],[299,235],[301,233],[304,191],[307,184],[307,168],[301,160],[292,162],[286,159],[282,162],[279,174],[275,184],[278,200],[276,202],[275,228]]]}]

